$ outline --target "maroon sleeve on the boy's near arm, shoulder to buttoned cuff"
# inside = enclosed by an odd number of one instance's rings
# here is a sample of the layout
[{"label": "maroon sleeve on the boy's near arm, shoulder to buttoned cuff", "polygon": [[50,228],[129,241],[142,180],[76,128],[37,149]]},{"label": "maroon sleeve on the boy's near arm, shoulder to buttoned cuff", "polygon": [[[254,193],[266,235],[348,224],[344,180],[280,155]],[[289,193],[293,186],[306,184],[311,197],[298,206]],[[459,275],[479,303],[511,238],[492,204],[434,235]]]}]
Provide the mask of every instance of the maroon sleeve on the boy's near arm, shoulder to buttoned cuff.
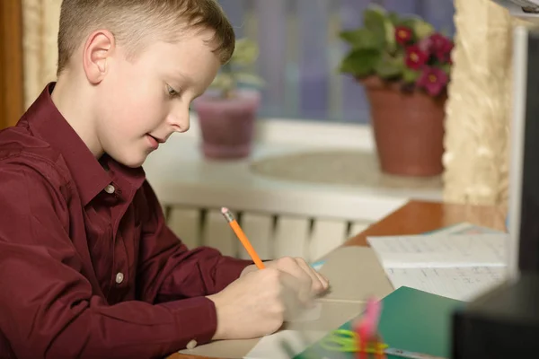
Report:
[{"label": "maroon sleeve on the boy's near arm, shoulder to buttoned cuff", "polygon": [[66,188],[52,184],[52,177],[54,171],[0,162],[0,333],[13,354],[151,358],[193,338],[209,341],[215,306],[204,297],[108,305],[93,294],[68,235]]}]

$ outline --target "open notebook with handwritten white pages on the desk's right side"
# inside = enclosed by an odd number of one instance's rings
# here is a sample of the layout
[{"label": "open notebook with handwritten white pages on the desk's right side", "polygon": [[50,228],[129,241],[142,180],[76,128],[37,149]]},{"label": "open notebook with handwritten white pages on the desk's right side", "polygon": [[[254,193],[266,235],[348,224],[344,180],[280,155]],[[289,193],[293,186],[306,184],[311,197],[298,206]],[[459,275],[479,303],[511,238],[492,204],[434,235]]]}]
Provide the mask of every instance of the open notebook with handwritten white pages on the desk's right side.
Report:
[{"label": "open notebook with handwritten white pages on the desk's right side", "polygon": [[395,289],[420,289],[461,301],[506,275],[508,234],[463,223],[440,232],[368,237]]}]

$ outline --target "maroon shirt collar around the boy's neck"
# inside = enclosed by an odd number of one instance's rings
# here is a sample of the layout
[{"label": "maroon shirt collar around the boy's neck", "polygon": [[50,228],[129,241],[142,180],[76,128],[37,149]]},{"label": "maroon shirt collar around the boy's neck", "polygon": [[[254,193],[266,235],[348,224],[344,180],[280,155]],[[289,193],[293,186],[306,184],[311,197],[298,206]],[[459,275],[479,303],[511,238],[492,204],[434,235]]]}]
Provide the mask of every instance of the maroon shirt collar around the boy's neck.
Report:
[{"label": "maroon shirt collar around the boy's neck", "polygon": [[141,167],[130,169],[114,161],[108,155],[102,157],[102,163],[110,168],[107,172],[102,164],[96,160],[90,149],[84,144],[66,118],[57,110],[50,98],[56,83],[49,83],[40,97],[27,111],[27,118],[32,132],[48,142],[62,154],[66,166],[73,176],[75,186],[86,206],[93,197],[96,197],[113,177],[126,180],[134,188],[139,188],[145,179]]}]

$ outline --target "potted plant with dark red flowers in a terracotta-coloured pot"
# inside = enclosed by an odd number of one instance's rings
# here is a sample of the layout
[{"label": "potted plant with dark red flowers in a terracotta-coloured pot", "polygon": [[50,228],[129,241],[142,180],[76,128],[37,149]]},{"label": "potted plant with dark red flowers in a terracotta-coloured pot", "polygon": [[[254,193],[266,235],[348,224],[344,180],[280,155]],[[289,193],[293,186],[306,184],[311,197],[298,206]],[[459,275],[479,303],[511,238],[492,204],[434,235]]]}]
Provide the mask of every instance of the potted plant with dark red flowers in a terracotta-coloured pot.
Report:
[{"label": "potted plant with dark red flowers in a terracotta-coloured pot", "polygon": [[395,175],[437,175],[454,42],[419,16],[372,5],[363,17],[363,27],[340,32],[350,45],[340,72],[366,89],[380,167]]}]

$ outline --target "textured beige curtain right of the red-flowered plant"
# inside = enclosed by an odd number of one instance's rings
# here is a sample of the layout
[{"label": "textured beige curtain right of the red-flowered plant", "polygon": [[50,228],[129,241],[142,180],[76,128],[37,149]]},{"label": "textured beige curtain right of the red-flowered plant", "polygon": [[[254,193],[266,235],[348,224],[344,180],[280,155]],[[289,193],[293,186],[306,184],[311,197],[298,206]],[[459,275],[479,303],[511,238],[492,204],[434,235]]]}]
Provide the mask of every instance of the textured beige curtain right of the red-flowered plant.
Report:
[{"label": "textured beige curtain right of the red-flowered plant", "polygon": [[506,206],[515,21],[491,0],[455,0],[455,10],[444,197]]}]

